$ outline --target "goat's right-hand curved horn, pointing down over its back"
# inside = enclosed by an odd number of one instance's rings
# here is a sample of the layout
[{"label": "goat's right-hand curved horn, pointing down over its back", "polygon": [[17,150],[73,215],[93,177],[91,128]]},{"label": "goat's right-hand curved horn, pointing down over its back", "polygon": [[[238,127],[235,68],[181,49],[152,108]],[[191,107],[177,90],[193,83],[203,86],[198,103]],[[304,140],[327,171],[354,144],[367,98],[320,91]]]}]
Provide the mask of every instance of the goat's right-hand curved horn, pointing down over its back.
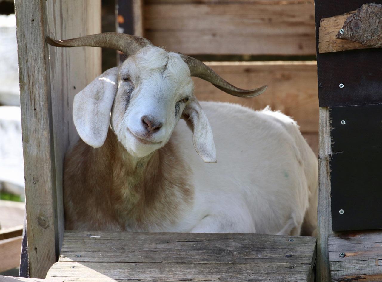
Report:
[{"label": "goat's right-hand curved horn, pointing down over its back", "polygon": [[212,83],[215,87],[220,90],[231,94],[237,97],[255,97],[263,93],[267,86],[262,86],[260,88],[244,90],[233,86],[231,83],[228,83],[224,79],[222,79],[213,69],[209,66],[206,66],[203,62],[190,57],[184,54],[181,54],[183,59],[188,64],[189,70],[191,72],[191,76],[199,77],[204,79],[210,83]]}]

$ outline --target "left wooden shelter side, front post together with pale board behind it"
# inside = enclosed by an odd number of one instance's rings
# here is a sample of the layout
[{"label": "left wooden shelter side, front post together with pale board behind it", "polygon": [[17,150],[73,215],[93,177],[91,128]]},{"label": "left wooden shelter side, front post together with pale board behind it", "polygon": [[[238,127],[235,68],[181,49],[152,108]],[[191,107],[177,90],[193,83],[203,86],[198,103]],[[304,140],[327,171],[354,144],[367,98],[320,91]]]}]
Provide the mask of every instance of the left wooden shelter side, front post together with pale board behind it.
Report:
[{"label": "left wooden shelter side, front post together with pale board behind it", "polygon": [[78,138],[71,118],[73,96],[101,67],[100,49],[51,48],[49,54],[45,36],[99,33],[100,1],[16,0],[15,10],[29,275],[44,278],[57,260],[63,236],[63,156]]}]

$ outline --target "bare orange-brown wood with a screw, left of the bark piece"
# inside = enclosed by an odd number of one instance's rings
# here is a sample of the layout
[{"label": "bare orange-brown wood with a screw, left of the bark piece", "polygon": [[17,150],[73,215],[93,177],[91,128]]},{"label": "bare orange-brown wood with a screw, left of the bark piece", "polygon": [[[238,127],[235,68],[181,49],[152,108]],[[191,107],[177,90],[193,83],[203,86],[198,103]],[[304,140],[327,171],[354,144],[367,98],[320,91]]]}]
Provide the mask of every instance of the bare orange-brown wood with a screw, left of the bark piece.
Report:
[{"label": "bare orange-brown wood with a screw, left of the bark piece", "polygon": [[340,29],[342,29],[343,23],[354,12],[321,19],[318,36],[319,53],[371,48],[358,42],[336,37]]}]

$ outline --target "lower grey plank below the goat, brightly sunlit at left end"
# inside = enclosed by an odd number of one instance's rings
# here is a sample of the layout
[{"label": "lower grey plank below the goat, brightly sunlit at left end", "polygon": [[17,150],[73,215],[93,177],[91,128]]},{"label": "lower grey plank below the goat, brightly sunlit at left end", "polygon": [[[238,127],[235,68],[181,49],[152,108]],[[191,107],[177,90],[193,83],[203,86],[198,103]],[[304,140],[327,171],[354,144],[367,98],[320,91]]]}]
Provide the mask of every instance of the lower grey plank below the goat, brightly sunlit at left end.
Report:
[{"label": "lower grey plank below the goat, brightly sunlit at left end", "polygon": [[308,281],[304,264],[56,263],[47,278],[65,281]]}]

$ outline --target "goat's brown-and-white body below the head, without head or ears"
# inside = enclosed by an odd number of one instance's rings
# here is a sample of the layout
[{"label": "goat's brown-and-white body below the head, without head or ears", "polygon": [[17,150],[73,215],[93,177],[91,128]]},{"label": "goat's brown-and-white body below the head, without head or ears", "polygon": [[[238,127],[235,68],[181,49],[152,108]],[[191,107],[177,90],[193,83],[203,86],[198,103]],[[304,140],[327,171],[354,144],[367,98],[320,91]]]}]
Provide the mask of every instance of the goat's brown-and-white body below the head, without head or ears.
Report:
[{"label": "goat's brown-and-white body below the head, without head or ears", "polygon": [[199,158],[183,120],[142,158],[110,128],[100,148],[78,141],[65,157],[66,229],[312,234],[317,158],[296,122],[268,109],[201,105],[217,163]]}]

